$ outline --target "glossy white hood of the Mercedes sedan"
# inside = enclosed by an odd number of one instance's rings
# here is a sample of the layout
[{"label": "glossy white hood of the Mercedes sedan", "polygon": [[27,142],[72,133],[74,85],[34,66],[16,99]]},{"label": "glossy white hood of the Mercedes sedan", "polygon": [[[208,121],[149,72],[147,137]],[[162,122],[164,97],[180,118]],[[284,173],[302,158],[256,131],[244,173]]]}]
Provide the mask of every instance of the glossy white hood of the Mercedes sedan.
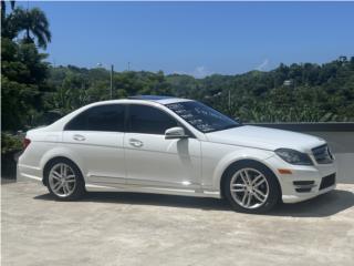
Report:
[{"label": "glossy white hood of the Mercedes sedan", "polygon": [[284,130],[274,130],[253,125],[242,125],[230,130],[206,134],[208,141],[274,151],[280,147],[310,152],[325,144],[323,139]]}]

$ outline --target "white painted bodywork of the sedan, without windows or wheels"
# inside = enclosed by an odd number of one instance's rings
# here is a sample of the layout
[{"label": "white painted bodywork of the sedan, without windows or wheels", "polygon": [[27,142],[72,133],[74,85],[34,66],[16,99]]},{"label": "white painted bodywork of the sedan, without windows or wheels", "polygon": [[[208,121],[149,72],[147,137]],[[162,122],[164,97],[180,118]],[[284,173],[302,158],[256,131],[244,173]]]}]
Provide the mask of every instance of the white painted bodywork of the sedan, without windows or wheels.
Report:
[{"label": "white painted bodywork of the sedan, without windows or wheels", "polygon": [[[27,133],[31,144],[19,158],[18,175],[42,181],[45,164],[62,156],[79,166],[87,191],[114,190],[219,198],[223,172],[232,163],[249,158],[264,164],[274,173],[285,203],[304,201],[335,187],[319,190],[322,177],[336,172],[333,163],[292,165],[274,153],[277,149],[293,149],[308,153],[313,160],[311,150],[325,144],[324,140],[250,125],[205,134],[164,105],[189,100],[113,100],[83,106],[49,126]],[[64,131],[65,124],[81,112],[112,103],[159,109],[175,117],[195,137],[166,140],[164,135],[154,134]],[[77,135],[84,140],[77,140]],[[142,142],[143,145],[135,145],[132,141]],[[280,174],[279,168],[290,170],[293,174]],[[309,180],[316,185],[311,193],[296,193],[293,181]]]}]

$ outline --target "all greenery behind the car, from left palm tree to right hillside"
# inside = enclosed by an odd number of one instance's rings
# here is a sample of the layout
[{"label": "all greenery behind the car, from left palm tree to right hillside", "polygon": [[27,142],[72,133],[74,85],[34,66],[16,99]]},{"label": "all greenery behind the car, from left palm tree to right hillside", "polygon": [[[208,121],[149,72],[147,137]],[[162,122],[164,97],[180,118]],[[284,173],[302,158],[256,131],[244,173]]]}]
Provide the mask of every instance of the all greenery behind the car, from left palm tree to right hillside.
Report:
[{"label": "all greenery behind the car, from left palm tree to right hillside", "polygon": [[[52,34],[40,9],[1,1],[1,23],[2,131],[46,124],[110,99],[107,70],[53,66],[46,61],[43,51]],[[246,122],[354,121],[354,58],[204,79],[162,71],[114,72],[113,98],[136,94],[199,100]]]}]

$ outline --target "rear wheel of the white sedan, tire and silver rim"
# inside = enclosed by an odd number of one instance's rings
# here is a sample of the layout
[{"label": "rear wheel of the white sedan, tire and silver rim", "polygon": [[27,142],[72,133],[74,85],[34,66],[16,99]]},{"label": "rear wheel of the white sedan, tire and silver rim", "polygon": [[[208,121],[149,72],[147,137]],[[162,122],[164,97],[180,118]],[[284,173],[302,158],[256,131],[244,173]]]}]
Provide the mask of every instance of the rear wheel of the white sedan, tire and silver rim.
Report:
[{"label": "rear wheel of the white sedan, tire and silver rim", "polygon": [[85,194],[85,183],[80,168],[67,158],[51,161],[44,171],[49,192],[58,200],[74,201]]}]

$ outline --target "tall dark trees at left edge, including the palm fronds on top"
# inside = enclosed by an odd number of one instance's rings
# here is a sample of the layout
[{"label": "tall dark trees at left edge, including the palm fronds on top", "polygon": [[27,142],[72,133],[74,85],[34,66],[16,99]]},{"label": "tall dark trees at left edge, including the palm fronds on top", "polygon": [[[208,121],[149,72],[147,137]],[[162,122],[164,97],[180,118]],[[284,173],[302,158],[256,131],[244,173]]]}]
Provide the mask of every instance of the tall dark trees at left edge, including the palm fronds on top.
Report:
[{"label": "tall dark trees at left edge, including the palm fronds on top", "polygon": [[[14,8],[7,12],[7,2],[1,1],[1,129],[14,131],[32,125],[43,112],[43,95],[49,63],[40,47],[50,41],[49,23],[39,9]],[[25,32],[23,38],[21,33]],[[34,38],[35,37],[35,38]],[[14,40],[17,39],[17,41]]]}]

